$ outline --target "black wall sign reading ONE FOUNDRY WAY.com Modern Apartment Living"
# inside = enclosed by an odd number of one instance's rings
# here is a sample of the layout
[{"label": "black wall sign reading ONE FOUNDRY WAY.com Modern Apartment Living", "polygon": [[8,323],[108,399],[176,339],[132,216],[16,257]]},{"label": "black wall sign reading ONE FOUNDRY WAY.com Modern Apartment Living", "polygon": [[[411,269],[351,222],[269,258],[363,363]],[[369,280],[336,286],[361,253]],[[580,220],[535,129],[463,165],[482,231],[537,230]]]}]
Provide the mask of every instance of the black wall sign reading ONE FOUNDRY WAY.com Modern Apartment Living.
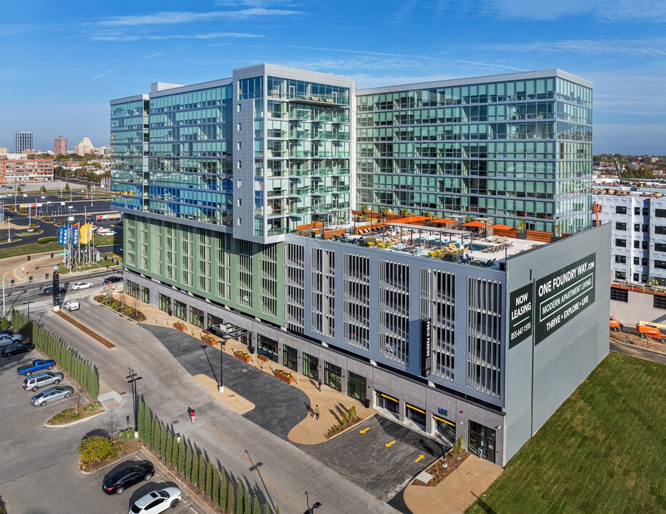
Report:
[{"label": "black wall sign reading ONE FOUNDRY WAY.com Modern Apartment Living", "polygon": [[535,283],[535,345],[595,301],[596,253]]}]

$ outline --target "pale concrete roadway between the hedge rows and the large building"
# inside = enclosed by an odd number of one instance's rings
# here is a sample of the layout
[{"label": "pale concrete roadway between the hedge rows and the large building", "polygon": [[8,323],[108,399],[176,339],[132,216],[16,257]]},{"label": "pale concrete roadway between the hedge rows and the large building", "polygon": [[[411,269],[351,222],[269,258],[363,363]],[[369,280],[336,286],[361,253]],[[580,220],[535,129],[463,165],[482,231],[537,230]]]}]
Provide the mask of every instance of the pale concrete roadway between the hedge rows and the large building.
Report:
[{"label": "pale concrete roadway between the hedge rows and the large building", "polygon": [[[102,346],[56,316],[49,298],[36,298],[31,306],[32,318],[96,363],[104,380],[125,398],[129,391],[125,376],[129,367],[134,368],[143,377],[138,384],[139,394],[161,420],[219,460],[230,479],[242,480],[262,503],[269,503],[272,510],[279,505],[282,512],[302,511],[307,490],[311,502],[322,503],[317,514],[395,512],[362,489],[363,476],[348,480],[296,445],[224,408],[149,331],[96,305],[91,298],[96,293],[99,293],[97,288],[68,292],[67,299],[81,302],[81,310],[72,316],[86,326],[95,327],[117,348]],[[197,410],[194,424],[189,423],[188,408]],[[124,420],[130,411],[129,402],[124,402],[116,410],[116,419]],[[88,428],[96,425],[91,423]],[[15,440],[16,433],[12,434],[13,437],[6,439]],[[0,487],[4,488],[1,477],[0,474]],[[71,488],[71,495],[78,495],[75,488]]]}]

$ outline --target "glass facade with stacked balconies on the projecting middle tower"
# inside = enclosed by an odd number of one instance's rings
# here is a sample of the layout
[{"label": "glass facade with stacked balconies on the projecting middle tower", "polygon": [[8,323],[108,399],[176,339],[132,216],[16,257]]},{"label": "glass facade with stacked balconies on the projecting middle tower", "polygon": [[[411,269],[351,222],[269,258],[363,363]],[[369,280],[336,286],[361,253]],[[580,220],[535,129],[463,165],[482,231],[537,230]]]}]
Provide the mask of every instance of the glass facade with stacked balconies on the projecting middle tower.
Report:
[{"label": "glass facade with stacked balconies on the projecting middle tower", "polygon": [[[258,81],[241,82],[243,98],[263,96]],[[265,214],[267,235],[349,221],[349,87],[268,76],[266,96],[265,116],[263,103],[255,104],[254,191],[255,215]],[[257,137],[264,124],[265,144]],[[255,235],[262,235],[260,218]]]}]

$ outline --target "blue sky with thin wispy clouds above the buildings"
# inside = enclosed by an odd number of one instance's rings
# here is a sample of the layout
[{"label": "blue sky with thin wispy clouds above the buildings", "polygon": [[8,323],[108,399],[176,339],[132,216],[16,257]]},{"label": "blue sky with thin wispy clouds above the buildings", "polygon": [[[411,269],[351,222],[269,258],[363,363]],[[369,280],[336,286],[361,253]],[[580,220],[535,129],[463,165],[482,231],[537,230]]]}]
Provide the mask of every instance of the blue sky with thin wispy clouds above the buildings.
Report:
[{"label": "blue sky with thin wispy clouds above the buildings", "polygon": [[109,99],[273,62],[359,88],[560,68],[595,83],[595,153],[665,154],[665,27],[663,0],[6,1],[0,146],[108,144]]}]

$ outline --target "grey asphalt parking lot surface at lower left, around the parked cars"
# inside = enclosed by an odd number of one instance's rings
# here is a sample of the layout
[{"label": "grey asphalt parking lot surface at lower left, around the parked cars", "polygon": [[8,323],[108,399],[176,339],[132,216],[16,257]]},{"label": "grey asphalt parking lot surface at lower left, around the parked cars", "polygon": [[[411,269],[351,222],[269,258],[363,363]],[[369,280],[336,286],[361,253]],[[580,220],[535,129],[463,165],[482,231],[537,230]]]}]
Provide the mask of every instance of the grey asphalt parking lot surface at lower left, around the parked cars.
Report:
[{"label": "grey asphalt parking lot surface at lower left, around the parked cars", "polygon": [[[106,413],[68,428],[46,428],[44,421],[76,404],[75,396],[45,407],[33,407],[35,393],[21,388],[24,377],[16,375],[16,367],[39,358],[35,351],[0,361],[0,390],[3,391],[3,423],[0,438],[0,494],[9,513],[59,514],[127,513],[135,500],[169,485],[177,485],[156,465],[155,475],[122,495],[106,495],[101,488],[104,475],[114,469],[110,465],[91,475],[79,471],[76,450],[81,439],[92,430],[117,433],[124,428],[119,416]],[[54,371],[60,371],[58,366]],[[62,384],[66,384],[64,381]],[[48,386],[47,386],[48,387]],[[132,455],[123,460],[141,460]],[[183,500],[169,513],[197,512],[191,510],[192,499]]]}]

